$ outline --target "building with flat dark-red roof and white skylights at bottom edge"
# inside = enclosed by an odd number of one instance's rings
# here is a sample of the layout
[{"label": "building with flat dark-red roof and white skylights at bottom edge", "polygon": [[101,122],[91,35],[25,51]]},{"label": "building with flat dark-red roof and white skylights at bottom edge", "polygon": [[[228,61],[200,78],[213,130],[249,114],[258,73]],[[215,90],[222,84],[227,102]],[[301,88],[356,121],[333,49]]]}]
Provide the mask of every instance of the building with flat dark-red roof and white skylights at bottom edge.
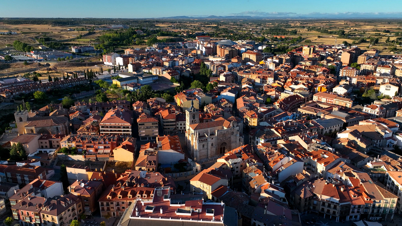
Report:
[{"label": "building with flat dark-red roof and white skylights at bottom edge", "polygon": [[195,199],[194,195],[173,194],[169,187],[156,187],[153,193],[153,199],[135,199],[117,226],[238,225],[235,209],[223,202],[205,203],[202,199]]}]

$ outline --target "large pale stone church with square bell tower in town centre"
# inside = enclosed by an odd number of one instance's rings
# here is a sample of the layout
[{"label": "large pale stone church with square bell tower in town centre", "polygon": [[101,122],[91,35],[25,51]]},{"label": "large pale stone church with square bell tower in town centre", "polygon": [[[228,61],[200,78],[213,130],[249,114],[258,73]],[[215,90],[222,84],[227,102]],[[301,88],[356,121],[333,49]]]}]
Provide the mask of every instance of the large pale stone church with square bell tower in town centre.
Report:
[{"label": "large pale stone church with square bell tower in town centre", "polygon": [[244,144],[241,120],[235,117],[216,118],[199,123],[199,112],[186,110],[186,143],[194,161],[206,161]]}]

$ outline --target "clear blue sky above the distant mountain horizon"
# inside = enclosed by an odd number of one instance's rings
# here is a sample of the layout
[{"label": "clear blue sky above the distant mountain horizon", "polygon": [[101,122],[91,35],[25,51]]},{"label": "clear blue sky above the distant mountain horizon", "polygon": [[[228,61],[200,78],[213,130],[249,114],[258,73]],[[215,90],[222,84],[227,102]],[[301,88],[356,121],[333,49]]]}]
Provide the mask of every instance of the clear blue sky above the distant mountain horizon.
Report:
[{"label": "clear blue sky above the distant mountain horizon", "polygon": [[402,1],[385,0],[16,0],[0,17],[160,18],[172,16],[402,18]]}]

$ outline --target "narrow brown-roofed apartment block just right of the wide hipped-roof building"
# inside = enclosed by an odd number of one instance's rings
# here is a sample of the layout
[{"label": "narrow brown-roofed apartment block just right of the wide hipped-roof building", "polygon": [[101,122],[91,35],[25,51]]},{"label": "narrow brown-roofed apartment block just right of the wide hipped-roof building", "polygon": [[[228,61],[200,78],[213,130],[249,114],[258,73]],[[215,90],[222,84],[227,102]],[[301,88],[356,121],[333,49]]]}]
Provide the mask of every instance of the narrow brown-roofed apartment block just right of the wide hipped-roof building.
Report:
[{"label": "narrow brown-roofed apartment block just right of the wide hipped-roof building", "polygon": [[147,114],[141,114],[138,119],[138,134],[140,140],[155,140],[158,136],[158,119]]}]

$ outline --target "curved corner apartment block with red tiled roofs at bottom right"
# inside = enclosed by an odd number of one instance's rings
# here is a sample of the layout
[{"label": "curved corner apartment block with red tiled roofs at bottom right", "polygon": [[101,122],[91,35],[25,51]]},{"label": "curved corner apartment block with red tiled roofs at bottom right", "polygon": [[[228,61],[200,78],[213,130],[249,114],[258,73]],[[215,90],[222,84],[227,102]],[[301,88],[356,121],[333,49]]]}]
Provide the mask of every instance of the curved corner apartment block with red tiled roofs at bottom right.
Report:
[{"label": "curved corner apartment block with red tiled roofs at bottom right", "polygon": [[[339,168],[336,179],[329,182],[313,179],[299,185],[292,193],[291,200],[299,199],[301,204],[310,204],[313,211],[324,218],[342,220],[379,220],[393,218],[397,196],[387,192],[381,184],[375,184],[367,173]],[[304,199],[304,202],[300,200]]]}]

